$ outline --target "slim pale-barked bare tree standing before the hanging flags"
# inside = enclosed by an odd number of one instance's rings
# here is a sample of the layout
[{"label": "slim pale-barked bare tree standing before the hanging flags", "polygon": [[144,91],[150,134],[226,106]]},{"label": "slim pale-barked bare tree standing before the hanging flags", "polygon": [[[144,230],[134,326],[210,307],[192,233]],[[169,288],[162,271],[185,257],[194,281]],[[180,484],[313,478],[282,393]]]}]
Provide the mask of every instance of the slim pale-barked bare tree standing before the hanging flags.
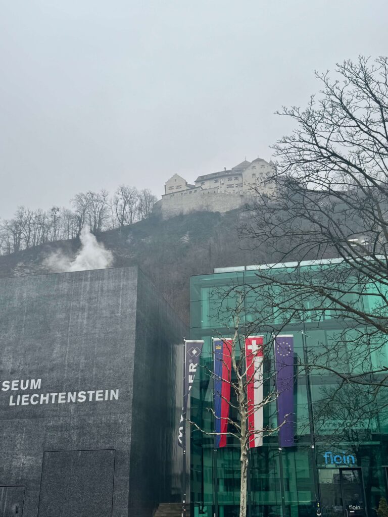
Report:
[{"label": "slim pale-barked bare tree standing before the hanging flags", "polygon": [[[219,293],[218,293],[219,294]],[[226,301],[226,303],[225,303]],[[264,369],[265,362],[270,362],[273,357],[272,348],[273,340],[267,343],[262,341],[261,344],[250,346],[252,351],[247,351],[246,339],[253,331],[251,326],[242,323],[242,316],[245,313],[244,295],[239,288],[222,293],[222,302],[218,307],[219,317],[223,326],[228,326],[232,334],[231,338],[219,336],[220,341],[225,343],[225,352],[220,359],[222,365],[225,365],[228,372],[227,377],[220,376],[212,369],[207,368],[207,375],[215,382],[222,381],[226,383],[231,390],[231,397],[226,398],[221,392],[215,392],[229,406],[229,416],[227,418],[227,430],[225,432],[216,432],[203,429],[196,421],[189,420],[193,428],[209,436],[231,436],[237,440],[240,445],[240,517],[246,517],[247,511],[247,476],[249,455],[248,450],[250,442],[255,439],[262,443],[263,436],[269,436],[277,431],[286,422],[280,422],[279,425],[262,425],[262,427],[253,427],[248,421],[257,412],[262,412],[264,406],[274,403],[279,396],[279,392],[275,387],[275,375],[271,369]],[[226,319],[225,319],[226,318]],[[225,322],[229,325],[225,325]],[[255,325],[256,327],[256,325]],[[214,354],[216,356],[217,354]],[[256,359],[260,356],[260,361]],[[261,396],[257,397],[257,403],[252,402],[252,397],[248,396],[250,389],[260,392]],[[292,389],[292,380],[290,389]],[[255,397],[253,397],[255,398]],[[215,408],[208,407],[207,410],[213,415],[215,420],[225,420],[225,417],[217,415]],[[237,418],[232,414],[236,413]],[[288,417],[287,415],[286,417]]]}]

